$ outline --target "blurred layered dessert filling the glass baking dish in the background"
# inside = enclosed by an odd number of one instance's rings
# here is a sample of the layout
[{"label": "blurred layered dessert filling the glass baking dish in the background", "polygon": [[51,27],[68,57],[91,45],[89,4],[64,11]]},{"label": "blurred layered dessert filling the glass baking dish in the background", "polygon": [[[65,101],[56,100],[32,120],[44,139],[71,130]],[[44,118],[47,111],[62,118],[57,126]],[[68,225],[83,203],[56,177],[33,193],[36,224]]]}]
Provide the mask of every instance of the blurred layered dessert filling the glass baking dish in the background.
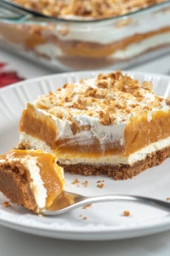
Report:
[{"label": "blurred layered dessert filling the glass baking dish in the background", "polygon": [[[48,20],[43,26],[38,20],[29,23],[27,19],[17,24],[0,23],[3,45],[7,45],[4,44],[7,40],[15,51],[26,52],[27,57],[36,61],[38,56],[39,61],[53,68],[81,70],[116,67],[116,64],[129,66],[143,58],[158,56],[156,53],[162,55],[170,51],[170,4],[159,5],[165,2],[163,0],[15,2],[65,19]],[[139,11],[153,5],[158,7]],[[129,15],[134,11],[138,12]],[[128,16],[120,17],[125,14]],[[105,18],[110,19],[99,21]]]}]

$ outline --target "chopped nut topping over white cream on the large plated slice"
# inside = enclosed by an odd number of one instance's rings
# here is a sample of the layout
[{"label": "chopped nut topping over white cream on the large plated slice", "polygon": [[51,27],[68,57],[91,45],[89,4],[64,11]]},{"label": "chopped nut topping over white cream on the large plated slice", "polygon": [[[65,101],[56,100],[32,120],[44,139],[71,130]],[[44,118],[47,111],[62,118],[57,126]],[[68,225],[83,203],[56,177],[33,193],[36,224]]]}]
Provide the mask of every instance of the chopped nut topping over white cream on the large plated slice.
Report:
[{"label": "chopped nut topping over white cream on the large plated slice", "polygon": [[[101,125],[128,122],[131,114],[160,109],[163,97],[151,92],[151,82],[139,85],[121,71],[99,74],[94,79],[83,79],[75,84],[65,84],[61,90],[40,96],[36,108],[70,122],[74,134],[91,130],[91,125],[75,122],[80,116],[97,119]],[[170,105],[169,97],[167,105]]]}]

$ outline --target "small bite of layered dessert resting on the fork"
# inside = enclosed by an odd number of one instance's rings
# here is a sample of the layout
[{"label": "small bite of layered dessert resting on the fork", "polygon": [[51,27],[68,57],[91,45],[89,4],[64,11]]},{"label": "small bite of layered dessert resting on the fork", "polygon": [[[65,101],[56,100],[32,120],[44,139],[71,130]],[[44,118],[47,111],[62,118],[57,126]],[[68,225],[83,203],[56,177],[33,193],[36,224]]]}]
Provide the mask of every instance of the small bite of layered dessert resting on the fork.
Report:
[{"label": "small bite of layered dessert resting on the fork", "polygon": [[0,156],[0,191],[35,213],[49,208],[63,191],[63,169],[41,150],[11,150]]}]

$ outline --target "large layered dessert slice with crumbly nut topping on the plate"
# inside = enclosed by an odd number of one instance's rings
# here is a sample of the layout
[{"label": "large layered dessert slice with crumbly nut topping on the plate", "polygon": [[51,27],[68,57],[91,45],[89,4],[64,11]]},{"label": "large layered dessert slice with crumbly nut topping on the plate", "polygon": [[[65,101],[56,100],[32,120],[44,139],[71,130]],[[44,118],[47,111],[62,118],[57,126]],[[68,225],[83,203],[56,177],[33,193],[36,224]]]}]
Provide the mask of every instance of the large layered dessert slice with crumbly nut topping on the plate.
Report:
[{"label": "large layered dessert slice with crumbly nut topping on the plate", "polygon": [[170,155],[170,102],[120,71],[28,102],[19,147],[53,152],[66,172],[128,179]]}]

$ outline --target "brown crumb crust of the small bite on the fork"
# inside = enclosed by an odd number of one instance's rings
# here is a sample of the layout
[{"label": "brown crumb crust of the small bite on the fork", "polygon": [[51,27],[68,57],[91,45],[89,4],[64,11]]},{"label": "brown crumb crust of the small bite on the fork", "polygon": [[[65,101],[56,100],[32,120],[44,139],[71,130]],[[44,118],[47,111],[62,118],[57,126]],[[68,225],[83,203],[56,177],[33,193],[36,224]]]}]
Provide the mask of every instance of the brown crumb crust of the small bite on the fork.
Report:
[{"label": "brown crumb crust of the small bite on the fork", "polygon": [[0,191],[11,203],[37,212],[36,201],[30,188],[29,172],[22,164],[0,164]]}]

